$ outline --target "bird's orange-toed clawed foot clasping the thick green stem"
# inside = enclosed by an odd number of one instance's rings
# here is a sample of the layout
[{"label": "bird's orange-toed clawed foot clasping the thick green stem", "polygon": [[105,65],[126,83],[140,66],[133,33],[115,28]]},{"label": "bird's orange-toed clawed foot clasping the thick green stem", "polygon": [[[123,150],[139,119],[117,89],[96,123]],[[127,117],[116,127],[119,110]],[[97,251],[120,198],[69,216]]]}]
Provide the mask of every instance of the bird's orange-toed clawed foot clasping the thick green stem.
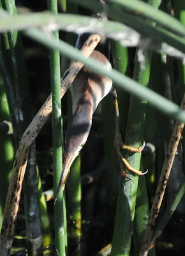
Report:
[{"label": "bird's orange-toed clawed foot clasping the thick green stem", "polygon": [[[145,175],[145,174],[148,172],[148,170],[147,170],[146,172],[141,172],[141,171],[136,170],[135,168],[133,168],[133,167],[128,163],[128,161],[122,156],[122,153],[121,153],[121,148],[122,148],[122,149],[129,150],[130,152],[141,153],[142,150],[143,150],[144,147],[145,147],[145,141],[144,141],[144,143],[142,144],[142,146],[140,146],[140,147],[138,147],[138,148],[133,148],[133,147],[129,147],[129,146],[125,145],[125,144],[122,142],[121,134],[117,134],[117,136],[115,136],[114,144],[115,144],[115,149],[116,149],[117,155],[118,155],[118,157],[119,157],[119,165],[120,165],[120,167],[121,167],[121,174],[122,174],[122,176],[128,178],[128,175],[127,175],[126,172],[124,171],[124,166],[126,167],[126,169],[130,170],[131,172],[136,173],[137,175]],[[123,165],[123,164],[124,164],[124,165]],[[130,178],[129,178],[129,179],[130,179]]]}]

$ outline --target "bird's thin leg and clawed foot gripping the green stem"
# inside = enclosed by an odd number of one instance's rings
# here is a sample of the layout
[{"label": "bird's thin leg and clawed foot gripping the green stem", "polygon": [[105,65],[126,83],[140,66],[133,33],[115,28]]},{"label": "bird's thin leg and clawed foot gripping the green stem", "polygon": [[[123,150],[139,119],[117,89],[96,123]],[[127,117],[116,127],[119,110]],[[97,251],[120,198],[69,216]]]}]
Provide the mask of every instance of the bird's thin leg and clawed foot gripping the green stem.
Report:
[{"label": "bird's thin leg and clawed foot gripping the green stem", "polygon": [[135,170],[135,168],[133,168],[128,163],[128,161],[126,161],[126,159],[122,156],[121,148],[129,150],[130,152],[141,153],[143,148],[145,147],[145,143],[141,147],[133,148],[133,147],[129,147],[129,146],[125,145],[122,142],[121,132],[120,132],[120,129],[119,129],[119,108],[118,108],[118,103],[117,103],[117,93],[116,92],[114,93],[114,107],[115,107],[115,139],[114,139],[114,145],[115,145],[115,150],[117,152],[117,156],[118,156],[118,159],[119,159],[119,165],[121,167],[122,176],[128,177],[128,175],[124,171],[124,166],[126,166],[126,168],[128,170],[130,170],[131,172],[137,173],[137,175],[144,175],[147,172],[142,173],[141,171]]}]

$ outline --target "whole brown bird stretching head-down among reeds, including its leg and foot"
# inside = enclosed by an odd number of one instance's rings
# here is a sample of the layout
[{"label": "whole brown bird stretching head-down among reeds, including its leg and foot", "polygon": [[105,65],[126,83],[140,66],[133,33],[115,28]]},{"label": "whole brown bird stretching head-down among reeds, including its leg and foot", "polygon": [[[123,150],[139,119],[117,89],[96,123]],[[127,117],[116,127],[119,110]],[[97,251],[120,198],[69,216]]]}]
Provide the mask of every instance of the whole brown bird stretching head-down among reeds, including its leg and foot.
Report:
[{"label": "whole brown bird stretching head-down among reeds, including its leg and foot", "polygon": [[[89,35],[87,33],[85,33],[85,35],[83,34],[78,36],[76,47],[80,47],[82,42],[85,42],[88,36]],[[96,49],[92,52],[91,57],[102,63],[107,70],[111,70],[112,65],[110,64],[108,57],[105,56],[108,55],[108,51],[106,51],[106,49],[107,42],[103,45],[98,45],[98,47],[96,47]],[[108,93],[112,93],[115,97],[115,102],[117,102],[115,86],[112,83],[112,79],[97,75],[87,67],[83,67],[78,73],[77,77],[75,77],[73,84],[70,86],[70,92],[73,116],[66,132],[63,171],[61,173],[56,196],[54,198],[54,204],[56,203],[60,189],[62,187],[64,189],[68,174],[70,172],[71,164],[87,141],[89,132],[91,130],[93,114],[98,104]],[[117,107],[115,107],[115,113],[117,116],[119,115]],[[116,125],[116,127],[118,127],[118,125]],[[119,149],[122,147],[132,152],[142,152],[143,147],[131,148],[124,145],[124,143],[122,143],[121,133],[119,131],[117,131],[115,138],[115,148],[119,156],[122,174],[127,177],[126,173],[123,171],[122,162],[126,165],[126,168],[132,170],[138,175],[145,174],[129,166],[126,159],[122,157]]]}]

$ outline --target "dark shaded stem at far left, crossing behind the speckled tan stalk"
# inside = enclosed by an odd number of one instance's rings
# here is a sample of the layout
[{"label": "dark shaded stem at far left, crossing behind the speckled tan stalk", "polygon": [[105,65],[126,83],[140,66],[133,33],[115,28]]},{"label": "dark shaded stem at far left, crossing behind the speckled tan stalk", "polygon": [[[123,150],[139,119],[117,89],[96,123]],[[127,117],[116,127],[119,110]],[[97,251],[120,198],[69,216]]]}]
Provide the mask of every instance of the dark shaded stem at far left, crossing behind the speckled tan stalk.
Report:
[{"label": "dark shaded stem at far left, crossing behind the speckled tan stalk", "polygon": [[[1,1],[4,9],[10,15],[17,15],[14,0]],[[4,48],[3,48],[4,47]],[[1,67],[3,66],[3,78],[6,81],[6,95],[11,111],[11,122],[13,124],[13,137],[15,147],[26,127],[31,122],[29,85],[27,81],[26,65],[22,47],[22,39],[17,31],[10,31],[5,36],[5,42],[1,42]],[[4,58],[3,58],[4,57]],[[40,225],[38,179],[36,173],[36,154],[34,144],[29,155],[29,170],[26,173],[26,186],[24,185],[26,230],[28,255],[40,255],[42,250],[42,237]],[[32,164],[33,163],[33,164]],[[33,182],[31,182],[31,180]],[[31,198],[31,200],[30,200]],[[31,214],[30,214],[31,213]]]}]

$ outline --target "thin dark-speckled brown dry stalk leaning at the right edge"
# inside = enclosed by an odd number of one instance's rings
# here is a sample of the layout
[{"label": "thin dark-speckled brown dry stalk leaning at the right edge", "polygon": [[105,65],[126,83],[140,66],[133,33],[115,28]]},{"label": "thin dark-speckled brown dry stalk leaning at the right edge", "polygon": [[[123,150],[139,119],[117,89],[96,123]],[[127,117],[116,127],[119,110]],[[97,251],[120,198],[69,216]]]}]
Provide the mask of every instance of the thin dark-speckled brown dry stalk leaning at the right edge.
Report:
[{"label": "thin dark-speckled brown dry stalk leaning at the right edge", "polygon": [[[182,100],[181,108],[185,108],[185,94]],[[152,233],[156,224],[156,219],[159,214],[159,209],[161,207],[163,196],[165,194],[166,185],[168,182],[170,172],[172,170],[172,164],[174,163],[174,158],[177,153],[177,147],[179,145],[179,140],[181,138],[183,128],[184,123],[176,122],[174,132],[172,133],[172,137],[170,139],[170,143],[168,146],[168,151],[165,157],[165,163],[163,165],[163,170],[161,172],[161,177],[159,179],[156,195],[154,197],[154,202],[152,204],[149,223],[147,225],[147,229],[145,230],[144,240],[140,250],[140,256],[146,256],[149,249],[151,248]]]}]

